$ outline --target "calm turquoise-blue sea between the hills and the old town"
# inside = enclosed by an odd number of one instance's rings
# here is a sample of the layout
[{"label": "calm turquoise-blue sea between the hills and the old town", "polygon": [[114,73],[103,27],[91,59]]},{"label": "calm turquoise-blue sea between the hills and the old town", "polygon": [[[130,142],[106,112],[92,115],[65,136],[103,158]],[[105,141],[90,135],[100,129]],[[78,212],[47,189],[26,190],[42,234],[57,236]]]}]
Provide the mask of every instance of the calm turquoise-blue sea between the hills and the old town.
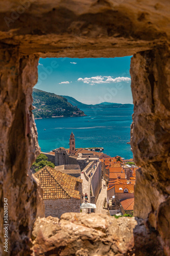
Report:
[{"label": "calm turquoise-blue sea between the hills and the old town", "polygon": [[99,146],[111,157],[133,157],[131,146],[127,144],[133,108],[83,111],[87,116],[35,120],[41,151],[50,152],[60,146],[68,148],[69,135],[73,132],[76,147]]}]

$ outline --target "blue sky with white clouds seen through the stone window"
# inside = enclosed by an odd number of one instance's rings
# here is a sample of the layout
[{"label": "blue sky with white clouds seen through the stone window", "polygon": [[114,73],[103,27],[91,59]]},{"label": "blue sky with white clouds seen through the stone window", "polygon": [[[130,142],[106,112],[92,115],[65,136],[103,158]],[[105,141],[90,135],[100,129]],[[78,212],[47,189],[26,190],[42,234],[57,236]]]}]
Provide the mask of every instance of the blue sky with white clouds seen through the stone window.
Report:
[{"label": "blue sky with white clouds seen through the stone window", "polygon": [[133,103],[130,59],[40,58],[35,88],[86,104]]}]

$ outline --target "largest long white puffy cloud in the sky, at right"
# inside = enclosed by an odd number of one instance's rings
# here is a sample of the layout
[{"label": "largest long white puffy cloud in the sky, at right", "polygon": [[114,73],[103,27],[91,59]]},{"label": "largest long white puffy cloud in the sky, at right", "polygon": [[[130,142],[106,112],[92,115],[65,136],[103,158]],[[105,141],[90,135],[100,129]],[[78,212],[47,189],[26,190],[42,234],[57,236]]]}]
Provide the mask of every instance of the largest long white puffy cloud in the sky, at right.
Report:
[{"label": "largest long white puffy cloud in the sky, at right", "polygon": [[92,86],[95,83],[111,83],[111,82],[130,82],[130,77],[115,77],[112,76],[92,76],[92,77],[85,77],[85,78],[78,78],[78,81],[84,82],[84,83],[90,83]]}]

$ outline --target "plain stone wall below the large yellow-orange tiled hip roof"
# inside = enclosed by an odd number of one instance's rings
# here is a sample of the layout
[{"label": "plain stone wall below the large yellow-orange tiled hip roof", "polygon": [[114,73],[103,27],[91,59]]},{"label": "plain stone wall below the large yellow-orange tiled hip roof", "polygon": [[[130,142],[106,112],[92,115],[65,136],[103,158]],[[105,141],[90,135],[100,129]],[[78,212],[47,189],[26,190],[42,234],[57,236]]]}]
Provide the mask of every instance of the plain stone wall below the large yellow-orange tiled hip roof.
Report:
[{"label": "plain stone wall below the large yellow-orange tiled hip roof", "polygon": [[60,218],[65,212],[80,212],[80,199],[44,199],[45,217]]}]

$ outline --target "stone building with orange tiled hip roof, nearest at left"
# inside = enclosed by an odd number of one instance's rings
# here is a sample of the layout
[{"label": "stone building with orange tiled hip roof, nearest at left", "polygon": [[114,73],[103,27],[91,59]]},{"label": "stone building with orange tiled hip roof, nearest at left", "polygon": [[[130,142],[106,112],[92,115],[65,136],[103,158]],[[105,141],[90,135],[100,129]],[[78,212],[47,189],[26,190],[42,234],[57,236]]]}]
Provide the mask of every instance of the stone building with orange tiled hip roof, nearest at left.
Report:
[{"label": "stone building with orange tiled hip roof, nearest at left", "polygon": [[65,212],[80,212],[82,180],[45,166],[35,177],[43,188],[45,217],[58,217]]}]

